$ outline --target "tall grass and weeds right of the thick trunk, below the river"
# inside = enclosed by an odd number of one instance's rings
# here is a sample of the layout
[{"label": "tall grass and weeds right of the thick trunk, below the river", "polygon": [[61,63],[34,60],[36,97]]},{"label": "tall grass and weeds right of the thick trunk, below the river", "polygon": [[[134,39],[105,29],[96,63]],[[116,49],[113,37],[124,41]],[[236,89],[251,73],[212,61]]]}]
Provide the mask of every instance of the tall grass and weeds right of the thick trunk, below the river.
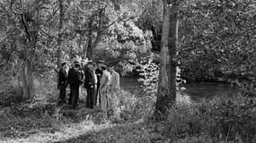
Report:
[{"label": "tall grass and weeds right of the thick trunk, below the river", "polygon": [[180,142],[255,142],[256,100],[216,97],[199,104],[178,104],[170,109],[163,134]]}]

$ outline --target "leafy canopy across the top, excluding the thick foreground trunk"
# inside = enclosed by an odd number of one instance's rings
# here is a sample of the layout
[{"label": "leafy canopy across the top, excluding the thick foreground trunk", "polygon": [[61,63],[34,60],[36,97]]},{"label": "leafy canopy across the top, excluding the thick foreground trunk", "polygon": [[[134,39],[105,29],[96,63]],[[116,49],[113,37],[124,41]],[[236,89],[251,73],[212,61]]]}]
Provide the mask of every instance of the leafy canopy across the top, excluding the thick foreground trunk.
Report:
[{"label": "leafy canopy across the top, excluding the thick foreground trunk", "polygon": [[[31,61],[34,74],[57,68],[59,46],[64,59],[90,53],[128,66],[160,49],[159,0],[64,0],[61,29],[60,1],[20,2],[1,2],[1,66],[7,70],[18,69],[21,60]],[[183,79],[232,82],[254,73],[254,1],[184,1],[180,17]]]}]

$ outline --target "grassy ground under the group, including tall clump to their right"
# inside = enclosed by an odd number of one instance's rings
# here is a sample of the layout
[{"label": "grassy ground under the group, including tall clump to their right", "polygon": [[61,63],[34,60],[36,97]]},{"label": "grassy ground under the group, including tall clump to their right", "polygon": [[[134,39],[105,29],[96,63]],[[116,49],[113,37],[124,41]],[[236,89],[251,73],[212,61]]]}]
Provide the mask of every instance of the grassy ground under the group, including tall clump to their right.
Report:
[{"label": "grassy ground under the group, including tall clump to their right", "polygon": [[[55,97],[35,97],[0,108],[0,142],[52,142],[67,140],[119,124],[141,119],[148,99],[120,90],[110,98],[110,111],[103,114],[99,108],[85,107],[81,97],[76,109],[57,105]],[[119,100],[119,104],[114,104]],[[114,112],[118,111],[118,112]]]}]

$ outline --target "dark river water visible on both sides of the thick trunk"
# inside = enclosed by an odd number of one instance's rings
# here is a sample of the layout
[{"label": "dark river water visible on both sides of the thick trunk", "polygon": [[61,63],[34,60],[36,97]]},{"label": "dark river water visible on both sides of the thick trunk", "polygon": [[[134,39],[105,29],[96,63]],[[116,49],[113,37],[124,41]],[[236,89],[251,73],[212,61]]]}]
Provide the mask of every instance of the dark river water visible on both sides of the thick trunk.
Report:
[{"label": "dark river water visible on both sides of the thick trunk", "polygon": [[[121,78],[120,86],[134,94],[143,93],[142,84],[135,78]],[[181,91],[181,95],[187,95],[192,101],[196,102],[203,98],[234,96],[238,94],[238,89],[231,88],[229,85],[221,83],[190,83],[183,84],[181,87],[186,88]]]}]

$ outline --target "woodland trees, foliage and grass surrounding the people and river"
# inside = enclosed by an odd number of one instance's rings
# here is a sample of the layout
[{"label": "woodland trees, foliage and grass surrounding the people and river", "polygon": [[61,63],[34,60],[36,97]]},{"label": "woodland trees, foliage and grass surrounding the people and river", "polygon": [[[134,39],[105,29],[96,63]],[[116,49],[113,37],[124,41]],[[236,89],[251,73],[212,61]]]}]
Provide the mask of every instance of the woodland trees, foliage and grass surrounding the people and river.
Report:
[{"label": "woodland trees, foliage and grass surrounding the people and river", "polygon": [[[0,142],[255,142],[255,13],[254,0],[0,1]],[[119,118],[56,105],[76,58],[138,80],[110,96]],[[237,95],[181,94],[201,82]]]}]

